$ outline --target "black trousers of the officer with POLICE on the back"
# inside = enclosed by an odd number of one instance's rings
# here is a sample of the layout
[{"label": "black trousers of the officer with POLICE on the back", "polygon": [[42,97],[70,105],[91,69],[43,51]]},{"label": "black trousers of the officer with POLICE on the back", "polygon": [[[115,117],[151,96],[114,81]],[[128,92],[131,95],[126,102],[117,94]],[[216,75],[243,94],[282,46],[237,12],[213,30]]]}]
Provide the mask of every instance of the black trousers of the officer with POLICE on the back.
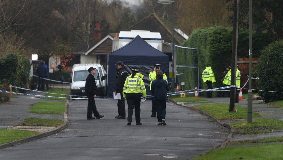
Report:
[{"label": "black trousers of the officer with POLICE on the back", "polygon": [[128,121],[132,121],[133,110],[135,108],[136,123],[141,123],[141,94],[127,93],[126,99],[128,103]]}]

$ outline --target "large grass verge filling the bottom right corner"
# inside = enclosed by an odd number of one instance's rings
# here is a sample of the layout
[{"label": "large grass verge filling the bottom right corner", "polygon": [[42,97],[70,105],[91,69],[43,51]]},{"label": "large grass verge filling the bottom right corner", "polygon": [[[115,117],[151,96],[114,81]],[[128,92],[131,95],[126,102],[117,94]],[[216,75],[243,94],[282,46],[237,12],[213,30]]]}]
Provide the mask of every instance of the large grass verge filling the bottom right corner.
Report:
[{"label": "large grass verge filling the bottom right corner", "polygon": [[193,158],[192,160],[207,159],[283,159],[283,144],[266,144],[252,146],[237,146],[213,149],[207,154]]}]

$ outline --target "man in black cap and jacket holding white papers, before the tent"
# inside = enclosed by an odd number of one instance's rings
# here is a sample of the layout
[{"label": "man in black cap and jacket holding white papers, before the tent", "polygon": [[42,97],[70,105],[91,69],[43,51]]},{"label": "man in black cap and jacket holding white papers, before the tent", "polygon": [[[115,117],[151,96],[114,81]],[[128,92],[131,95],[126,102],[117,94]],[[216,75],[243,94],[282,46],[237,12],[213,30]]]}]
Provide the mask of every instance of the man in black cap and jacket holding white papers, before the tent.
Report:
[{"label": "man in black cap and jacket holding white papers, before the tent", "polygon": [[121,99],[118,99],[117,106],[118,106],[118,115],[115,116],[115,118],[118,119],[125,119],[126,118],[126,110],[125,110],[125,99],[122,97],[123,95],[123,88],[126,81],[126,78],[128,77],[128,72],[124,68],[124,63],[119,61],[115,64],[115,66],[118,68],[117,74],[116,74],[116,88],[115,88],[115,94],[120,93]]}]

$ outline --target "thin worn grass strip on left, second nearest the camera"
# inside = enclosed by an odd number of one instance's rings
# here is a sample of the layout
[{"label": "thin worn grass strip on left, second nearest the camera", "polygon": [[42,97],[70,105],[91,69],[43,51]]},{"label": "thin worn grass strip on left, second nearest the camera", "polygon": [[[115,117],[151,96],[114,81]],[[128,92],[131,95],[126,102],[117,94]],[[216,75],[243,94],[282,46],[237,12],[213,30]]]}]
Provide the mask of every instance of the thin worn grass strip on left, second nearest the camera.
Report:
[{"label": "thin worn grass strip on left, second nearest the camera", "polygon": [[64,121],[57,119],[42,119],[32,117],[24,119],[24,122],[19,123],[18,125],[58,127],[63,123]]}]

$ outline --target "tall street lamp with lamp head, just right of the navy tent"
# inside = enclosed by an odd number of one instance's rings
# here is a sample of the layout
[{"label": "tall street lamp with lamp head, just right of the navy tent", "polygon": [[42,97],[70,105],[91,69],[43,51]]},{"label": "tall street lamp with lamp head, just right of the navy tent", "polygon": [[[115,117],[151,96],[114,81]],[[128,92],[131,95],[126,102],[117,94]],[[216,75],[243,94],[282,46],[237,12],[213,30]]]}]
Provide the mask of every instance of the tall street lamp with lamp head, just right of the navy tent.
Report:
[{"label": "tall street lamp with lamp head, just right of the navy tent", "polygon": [[171,50],[172,50],[172,92],[175,92],[175,72],[174,72],[174,50],[175,50],[175,43],[174,43],[174,2],[170,0],[159,0],[157,1],[160,4],[171,4],[172,3],[172,43],[171,43]]}]

